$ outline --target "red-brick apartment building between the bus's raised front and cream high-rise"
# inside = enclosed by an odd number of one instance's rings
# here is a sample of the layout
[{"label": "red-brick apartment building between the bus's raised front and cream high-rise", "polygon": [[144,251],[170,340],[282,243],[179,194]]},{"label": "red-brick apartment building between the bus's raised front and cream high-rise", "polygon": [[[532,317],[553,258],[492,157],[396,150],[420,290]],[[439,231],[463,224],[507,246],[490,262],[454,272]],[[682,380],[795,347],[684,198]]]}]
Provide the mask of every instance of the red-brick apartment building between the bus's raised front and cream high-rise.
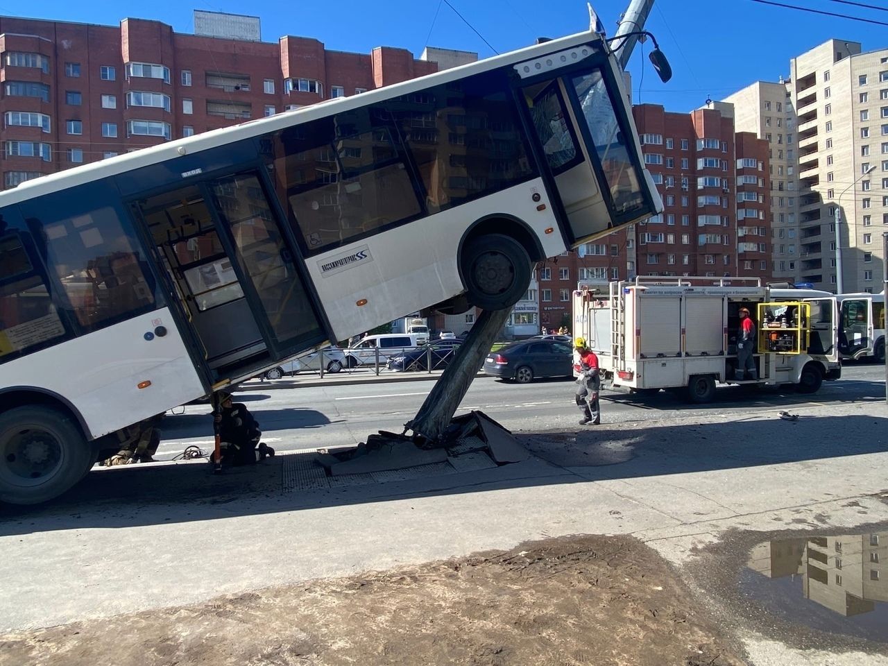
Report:
[{"label": "red-brick apartment building between the bus's raised front and cream high-rise", "polygon": [[770,280],[768,143],[734,132],[732,107],[690,114],[633,107],[648,170],[665,210],[640,225],[551,258],[537,273],[540,325],[570,325],[583,279],[737,275]]}]

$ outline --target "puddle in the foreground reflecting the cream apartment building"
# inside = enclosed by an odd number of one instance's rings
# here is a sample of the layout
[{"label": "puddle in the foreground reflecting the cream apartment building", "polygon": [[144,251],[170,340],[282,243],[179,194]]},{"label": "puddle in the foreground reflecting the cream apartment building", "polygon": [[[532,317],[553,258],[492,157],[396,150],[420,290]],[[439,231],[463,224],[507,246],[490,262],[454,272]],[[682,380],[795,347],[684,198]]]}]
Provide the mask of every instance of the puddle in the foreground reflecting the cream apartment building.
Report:
[{"label": "puddle in the foreground reflecting the cream apartment building", "polygon": [[888,643],[888,532],[759,543],[739,589],[786,622]]}]

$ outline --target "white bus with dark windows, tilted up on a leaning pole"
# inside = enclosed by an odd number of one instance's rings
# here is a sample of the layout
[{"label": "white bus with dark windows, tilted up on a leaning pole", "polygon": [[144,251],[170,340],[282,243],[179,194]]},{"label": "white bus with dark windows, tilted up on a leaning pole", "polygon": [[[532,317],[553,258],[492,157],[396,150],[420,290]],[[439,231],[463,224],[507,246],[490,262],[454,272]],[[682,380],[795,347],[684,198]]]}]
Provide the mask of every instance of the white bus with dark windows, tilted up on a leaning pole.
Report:
[{"label": "white bus with dark windows, tilted up on a leaning pole", "polygon": [[115,432],[662,210],[582,33],[0,193],[0,501]]}]

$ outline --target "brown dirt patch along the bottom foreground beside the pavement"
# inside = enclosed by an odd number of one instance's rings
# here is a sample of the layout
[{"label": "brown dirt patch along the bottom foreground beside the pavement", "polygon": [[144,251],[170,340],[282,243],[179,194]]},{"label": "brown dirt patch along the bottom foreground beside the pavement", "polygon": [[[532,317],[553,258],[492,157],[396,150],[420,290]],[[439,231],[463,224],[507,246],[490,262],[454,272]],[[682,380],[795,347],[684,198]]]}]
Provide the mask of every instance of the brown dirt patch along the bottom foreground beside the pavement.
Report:
[{"label": "brown dirt patch along the bottom foreground beside the pavement", "polygon": [[355,663],[744,662],[670,566],[625,536],[523,543],[0,636],[10,666]]}]

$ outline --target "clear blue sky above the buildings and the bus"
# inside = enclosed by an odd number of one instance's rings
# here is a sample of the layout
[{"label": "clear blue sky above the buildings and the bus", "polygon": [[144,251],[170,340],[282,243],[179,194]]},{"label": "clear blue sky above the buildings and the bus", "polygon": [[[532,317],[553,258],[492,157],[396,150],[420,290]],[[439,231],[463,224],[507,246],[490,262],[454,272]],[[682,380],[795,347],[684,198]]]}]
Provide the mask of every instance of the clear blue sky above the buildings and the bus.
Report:
[{"label": "clear blue sky above the buildings and the bus", "polygon": [[[831,0],[779,0],[825,12],[888,23],[888,0],[861,0],[870,9]],[[498,52],[533,44],[537,36],[558,37],[588,28],[585,0],[449,0]],[[597,0],[593,7],[613,35],[629,0]],[[309,36],[329,49],[369,52],[398,46],[418,57],[426,44],[492,55],[487,44],[443,0],[42,0],[25,12],[0,4],[5,15],[115,25],[126,17],[162,20],[190,33],[194,9],[258,15],[262,37]],[[885,11],[876,9],[881,7]],[[437,16],[436,16],[437,14]],[[634,99],[671,111],[700,107],[707,95],[721,99],[753,81],[776,81],[789,72],[789,58],[836,37],[861,42],[865,51],[888,47],[888,27],[818,16],[750,0],[655,0],[646,28],[670,59],[674,77],[663,84],[639,47],[630,63]],[[645,55],[652,48],[644,45]],[[642,77],[642,62],[644,74]]]}]

